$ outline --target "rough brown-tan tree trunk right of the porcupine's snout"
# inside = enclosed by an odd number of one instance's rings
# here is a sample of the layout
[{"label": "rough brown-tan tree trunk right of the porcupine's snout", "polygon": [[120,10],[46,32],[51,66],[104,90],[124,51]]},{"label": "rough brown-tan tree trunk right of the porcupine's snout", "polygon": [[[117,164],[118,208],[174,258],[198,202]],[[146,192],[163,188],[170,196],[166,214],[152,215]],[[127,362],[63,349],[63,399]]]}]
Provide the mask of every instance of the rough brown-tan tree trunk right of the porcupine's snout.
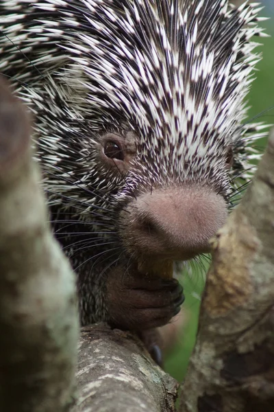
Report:
[{"label": "rough brown-tan tree trunk right of the porcupine's snout", "polygon": [[212,243],[181,412],[274,411],[274,131]]}]

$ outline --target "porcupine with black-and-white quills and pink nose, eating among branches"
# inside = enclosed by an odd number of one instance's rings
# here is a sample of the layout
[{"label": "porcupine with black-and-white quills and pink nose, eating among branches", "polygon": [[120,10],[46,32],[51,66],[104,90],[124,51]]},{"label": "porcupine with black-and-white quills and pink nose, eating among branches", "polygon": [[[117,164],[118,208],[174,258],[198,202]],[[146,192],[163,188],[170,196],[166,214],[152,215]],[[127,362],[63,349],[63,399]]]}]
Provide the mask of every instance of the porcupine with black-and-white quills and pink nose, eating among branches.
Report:
[{"label": "porcupine with black-and-white quills and pink nose, eating among branches", "polygon": [[182,288],[146,275],[143,262],[208,251],[236,178],[249,179],[261,126],[242,125],[243,100],[258,10],[227,0],[1,1],[0,71],[34,113],[82,324],[145,330],[178,312]]}]

